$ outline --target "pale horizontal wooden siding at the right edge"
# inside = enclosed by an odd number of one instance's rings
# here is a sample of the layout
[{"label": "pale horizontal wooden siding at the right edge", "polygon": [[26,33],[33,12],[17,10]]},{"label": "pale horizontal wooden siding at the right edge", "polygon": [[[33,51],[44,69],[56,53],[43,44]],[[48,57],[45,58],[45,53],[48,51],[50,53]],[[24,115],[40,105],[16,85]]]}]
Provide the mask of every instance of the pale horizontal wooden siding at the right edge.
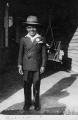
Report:
[{"label": "pale horizontal wooden siding at the right edge", "polygon": [[78,28],[76,29],[68,48],[68,57],[72,58],[72,70],[78,72]]}]

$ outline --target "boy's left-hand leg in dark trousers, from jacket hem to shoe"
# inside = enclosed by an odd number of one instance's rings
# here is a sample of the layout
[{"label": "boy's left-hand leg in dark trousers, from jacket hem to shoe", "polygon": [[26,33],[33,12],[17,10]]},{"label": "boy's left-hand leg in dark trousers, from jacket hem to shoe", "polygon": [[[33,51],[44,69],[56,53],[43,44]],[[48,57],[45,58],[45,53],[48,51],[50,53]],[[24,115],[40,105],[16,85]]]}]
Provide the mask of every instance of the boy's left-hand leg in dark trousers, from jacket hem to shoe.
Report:
[{"label": "boy's left-hand leg in dark trousers, from jacket hem to shoe", "polygon": [[31,106],[31,85],[32,85],[32,72],[24,71],[24,110],[28,110]]}]

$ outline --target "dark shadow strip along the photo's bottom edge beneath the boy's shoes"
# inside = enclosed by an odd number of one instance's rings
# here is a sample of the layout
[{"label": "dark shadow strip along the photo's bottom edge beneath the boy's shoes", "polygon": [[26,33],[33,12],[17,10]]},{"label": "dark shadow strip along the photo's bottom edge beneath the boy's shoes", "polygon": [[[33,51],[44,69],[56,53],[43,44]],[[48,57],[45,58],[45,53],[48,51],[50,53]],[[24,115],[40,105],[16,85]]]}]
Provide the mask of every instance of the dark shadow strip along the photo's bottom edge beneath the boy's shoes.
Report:
[{"label": "dark shadow strip along the photo's bottom edge beneath the boy's shoes", "polygon": [[46,110],[42,109],[40,111],[7,110],[7,111],[3,111],[1,114],[5,114],[5,115],[63,115],[64,110],[65,110],[65,107],[47,108]]}]

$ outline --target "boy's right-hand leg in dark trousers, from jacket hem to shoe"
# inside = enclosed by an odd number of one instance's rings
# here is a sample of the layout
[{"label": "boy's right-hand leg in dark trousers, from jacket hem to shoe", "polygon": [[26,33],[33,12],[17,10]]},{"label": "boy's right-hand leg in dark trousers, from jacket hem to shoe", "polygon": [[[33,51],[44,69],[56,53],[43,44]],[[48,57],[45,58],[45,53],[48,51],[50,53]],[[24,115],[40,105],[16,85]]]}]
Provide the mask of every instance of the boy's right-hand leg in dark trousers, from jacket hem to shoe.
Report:
[{"label": "boy's right-hand leg in dark trousers, from jacket hem to shoe", "polygon": [[33,95],[34,95],[34,105],[36,110],[40,110],[40,73],[34,72],[33,75]]}]

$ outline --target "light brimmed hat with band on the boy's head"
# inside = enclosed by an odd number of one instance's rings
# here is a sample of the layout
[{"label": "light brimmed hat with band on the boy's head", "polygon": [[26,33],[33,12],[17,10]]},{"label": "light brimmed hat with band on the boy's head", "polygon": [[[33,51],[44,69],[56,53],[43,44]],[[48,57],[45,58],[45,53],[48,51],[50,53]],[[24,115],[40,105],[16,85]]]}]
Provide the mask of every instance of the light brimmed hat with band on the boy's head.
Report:
[{"label": "light brimmed hat with band on the boy's head", "polygon": [[36,16],[28,16],[27,20],[24,23],[26,25],[40,25],[38,18]]}]

